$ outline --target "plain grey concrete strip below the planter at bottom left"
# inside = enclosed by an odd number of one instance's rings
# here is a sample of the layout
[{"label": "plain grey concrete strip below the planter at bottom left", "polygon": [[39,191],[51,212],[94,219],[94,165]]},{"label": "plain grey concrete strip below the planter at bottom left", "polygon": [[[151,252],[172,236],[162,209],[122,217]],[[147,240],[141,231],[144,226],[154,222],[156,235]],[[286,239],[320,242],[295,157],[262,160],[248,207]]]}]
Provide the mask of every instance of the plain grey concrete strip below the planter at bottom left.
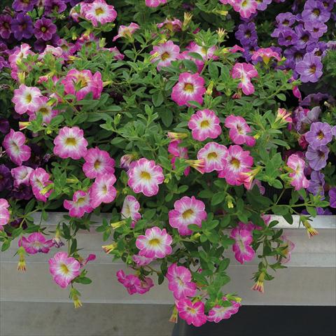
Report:
[{"label": "plain grey concrete strip below the planter at bottom left", "polygon": [[0,336],[170,336],[165,304],[0,302]]}]

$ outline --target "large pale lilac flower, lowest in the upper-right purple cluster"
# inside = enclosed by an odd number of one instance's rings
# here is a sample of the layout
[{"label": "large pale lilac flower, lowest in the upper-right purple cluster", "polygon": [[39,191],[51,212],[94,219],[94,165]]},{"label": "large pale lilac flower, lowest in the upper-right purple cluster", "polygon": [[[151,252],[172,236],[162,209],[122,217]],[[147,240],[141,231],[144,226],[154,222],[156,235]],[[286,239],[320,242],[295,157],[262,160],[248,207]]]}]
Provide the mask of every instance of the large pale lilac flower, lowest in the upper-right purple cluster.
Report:
[{"label": "large pale lilac flower, lowest in the upper-right purple cluster", "polygon": [[312,52],[307,52],[302,61],[295,66],[295,71],[300,73],[300,80],[303,83],[316,83],[323,74],[321,57],[315,56]]}]

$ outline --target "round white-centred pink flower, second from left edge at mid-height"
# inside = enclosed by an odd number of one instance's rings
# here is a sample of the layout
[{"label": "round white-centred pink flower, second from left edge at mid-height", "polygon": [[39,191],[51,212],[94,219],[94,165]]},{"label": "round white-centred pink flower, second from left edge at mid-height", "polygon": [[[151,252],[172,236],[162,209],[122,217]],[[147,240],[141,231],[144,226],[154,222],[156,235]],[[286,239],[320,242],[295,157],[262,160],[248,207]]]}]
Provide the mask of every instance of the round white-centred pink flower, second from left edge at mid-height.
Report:
[{"label": "round white-centred pink flower, second from left edge at mid-height", "polygon": [[59,158],[79,160],[87,153],[87,141],[79,127],[63,127],[54,140],[54,154]]}]

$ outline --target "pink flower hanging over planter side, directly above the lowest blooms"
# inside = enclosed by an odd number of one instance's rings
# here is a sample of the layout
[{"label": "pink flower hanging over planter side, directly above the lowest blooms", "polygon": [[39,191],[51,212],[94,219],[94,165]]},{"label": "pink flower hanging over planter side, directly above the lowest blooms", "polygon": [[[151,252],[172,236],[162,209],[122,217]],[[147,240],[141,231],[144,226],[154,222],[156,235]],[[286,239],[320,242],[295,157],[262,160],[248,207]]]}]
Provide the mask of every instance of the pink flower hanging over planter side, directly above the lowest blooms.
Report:
[{"label": "pink flower hanging over planter side, directly above the lowest blooms", "polygon": [[192,281],[190,270],[183,266],[172,264],[167,269],[168,288],[176,300],[192,297],[196,293],[196,283]]}]

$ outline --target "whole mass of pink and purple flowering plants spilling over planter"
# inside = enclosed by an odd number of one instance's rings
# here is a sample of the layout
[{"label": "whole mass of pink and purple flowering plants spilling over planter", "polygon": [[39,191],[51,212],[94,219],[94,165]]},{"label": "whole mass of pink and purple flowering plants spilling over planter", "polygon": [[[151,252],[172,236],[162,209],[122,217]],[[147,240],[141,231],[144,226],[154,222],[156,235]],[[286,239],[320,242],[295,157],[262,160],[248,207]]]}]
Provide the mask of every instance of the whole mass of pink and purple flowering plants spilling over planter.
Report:
[{"label": "whole mass of pink and purple flowering plants spilling over planter", "polygon": [[[48,253],[50,280],[80,307],[96,257],[76,235],[106,213],[102,253],[125,262],[130,295],[165,283],[172,321],[218,323],[241,306],[225,290],[231,262],[258,260],[264,292],[290,260],[270,214],[299,215],[309,237],[311,218],[335,214],[334,1],[12,2],[0,241],[19,270]],[[331,94],[307,91],[323,80]],[[32,216],[51,211],[66,212],[55,232]]]}]

